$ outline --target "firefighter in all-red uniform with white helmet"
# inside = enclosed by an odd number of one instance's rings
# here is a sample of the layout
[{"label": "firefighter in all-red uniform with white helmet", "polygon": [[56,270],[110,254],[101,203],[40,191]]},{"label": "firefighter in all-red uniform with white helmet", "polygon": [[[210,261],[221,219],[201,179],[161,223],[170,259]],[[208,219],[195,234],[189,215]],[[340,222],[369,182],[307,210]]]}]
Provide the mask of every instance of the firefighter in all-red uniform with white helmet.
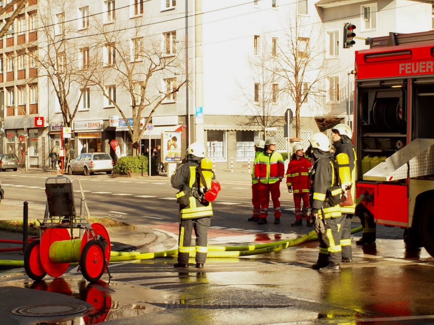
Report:
[{"label": "firefighter in all-red uniform with white helmet", "polygon": [[[307,208],[309,208],[310,177],[308,169],[312,166],[310,161],[304,157],[303,147],[300,143],[294,144],[293,156],[286,169],[286,186],[288,192],[293,193],[295,206],[295,222],[292,227],[303,226],[303,217],[306,219],[306,226],[312,227],[309,222]],[[303,200],[303,209],[301,201]]]}]

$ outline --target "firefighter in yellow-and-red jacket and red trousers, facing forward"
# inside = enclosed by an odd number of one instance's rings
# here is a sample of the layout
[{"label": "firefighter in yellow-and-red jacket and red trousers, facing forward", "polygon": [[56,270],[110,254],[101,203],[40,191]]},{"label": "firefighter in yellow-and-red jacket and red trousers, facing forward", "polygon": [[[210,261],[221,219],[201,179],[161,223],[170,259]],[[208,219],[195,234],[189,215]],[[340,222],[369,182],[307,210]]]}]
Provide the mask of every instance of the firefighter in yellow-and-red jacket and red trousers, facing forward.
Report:
[{"label": "firefighter in yellow-and-red jacket and red trousers, facing forward", "polygon": [[274,224],[280,223],[280,182],[285,172],[282,155],[276,153],[276,138],[269,137],[265,141],[264,152],[255,158],[254,178],[258,180],[258,191],[261,202],[261,211],[258,224],[268,223],[268,206],[270,193],[274,208]]}]

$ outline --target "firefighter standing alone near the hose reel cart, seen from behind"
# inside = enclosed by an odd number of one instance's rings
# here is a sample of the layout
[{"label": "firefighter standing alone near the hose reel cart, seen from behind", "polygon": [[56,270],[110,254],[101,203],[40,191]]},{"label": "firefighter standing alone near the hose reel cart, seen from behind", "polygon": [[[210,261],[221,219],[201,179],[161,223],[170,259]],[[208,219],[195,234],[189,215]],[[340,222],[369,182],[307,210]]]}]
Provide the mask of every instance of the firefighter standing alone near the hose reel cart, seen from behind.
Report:
[{"label": "firefighter standing alone near the hose reel cart, seen from behind", "polygon": [[[187,148],[186,162],[182,163],[171,177],[172,187],[179,190],[176,194],[179,204],[178,262],[174,267],[187,268],[191,246],[191,232],[196,235],[196,267],[203,268],[208,253],[208,228],[211,223],[212,206],[204,199],[200,190],[198,166],[205,158],[205,147],[199,142]],[[212,170],[212,179],[214,173]]]}]

